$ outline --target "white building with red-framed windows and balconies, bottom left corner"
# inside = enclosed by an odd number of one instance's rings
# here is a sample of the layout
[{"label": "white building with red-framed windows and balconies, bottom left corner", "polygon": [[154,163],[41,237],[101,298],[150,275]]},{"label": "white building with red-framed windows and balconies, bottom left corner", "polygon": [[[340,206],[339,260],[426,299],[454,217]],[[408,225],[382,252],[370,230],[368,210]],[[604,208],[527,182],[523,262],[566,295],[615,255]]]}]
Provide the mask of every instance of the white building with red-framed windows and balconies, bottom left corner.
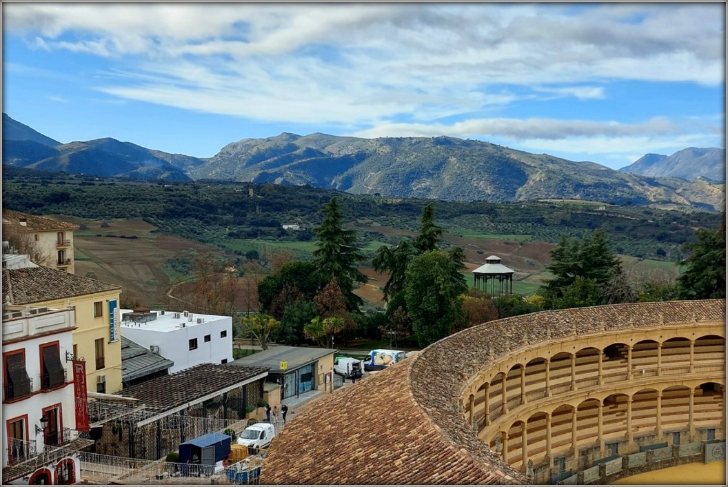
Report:
[{"label": "white building with red-framed windows and balconies, bottom left corner", "polygon": [[4,484],[80,480],[76,451],[93,442],[75,431],[75,328],[72,308],[3,306]]}]

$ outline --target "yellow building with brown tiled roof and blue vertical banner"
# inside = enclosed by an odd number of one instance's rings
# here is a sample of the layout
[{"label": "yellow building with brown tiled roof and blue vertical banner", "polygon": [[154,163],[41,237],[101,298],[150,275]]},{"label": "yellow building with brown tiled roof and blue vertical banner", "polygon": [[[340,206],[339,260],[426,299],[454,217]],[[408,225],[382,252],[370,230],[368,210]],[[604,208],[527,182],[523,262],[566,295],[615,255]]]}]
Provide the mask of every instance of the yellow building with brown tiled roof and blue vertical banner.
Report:
[{"label": "yellow building with brown tiled roof and blue vertical banner", "polygon": [[3,269],[2,285],[5,304],[74,308],[74,349],[65,352],[86,361],[89,392],[122,389],[120,286],[44,266]]}]

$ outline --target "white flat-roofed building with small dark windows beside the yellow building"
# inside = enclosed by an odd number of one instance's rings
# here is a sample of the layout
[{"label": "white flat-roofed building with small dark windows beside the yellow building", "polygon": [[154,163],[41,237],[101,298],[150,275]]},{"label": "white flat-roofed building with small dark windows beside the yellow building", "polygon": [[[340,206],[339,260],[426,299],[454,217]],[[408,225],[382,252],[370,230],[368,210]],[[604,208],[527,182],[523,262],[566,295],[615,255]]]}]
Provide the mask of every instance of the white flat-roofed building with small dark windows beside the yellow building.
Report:
[{"label": "white flat-roofed building with small dark windows beside the yellow building", "polygon": [[170,373],[232,362],[232,317],[122,309],[122,336],[174,362]]}]

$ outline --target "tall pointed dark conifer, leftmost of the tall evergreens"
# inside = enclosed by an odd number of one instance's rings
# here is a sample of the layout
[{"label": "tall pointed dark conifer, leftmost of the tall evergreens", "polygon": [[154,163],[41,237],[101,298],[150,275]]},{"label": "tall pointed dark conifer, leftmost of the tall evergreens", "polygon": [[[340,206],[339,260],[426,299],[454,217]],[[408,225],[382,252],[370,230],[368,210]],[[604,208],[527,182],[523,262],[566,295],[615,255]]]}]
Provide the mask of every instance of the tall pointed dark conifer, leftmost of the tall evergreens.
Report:
[{"label": "tall pointed dark conifer, leftmost of the tall evergreens", "polygon": [[357,232],[344,229],[344,217],[337,197],[323,205],[323,213],[323,222],[315,229],[317,242],[314,265],[326,282],[336,279],[347,308],[354,311],[363,304],[362,298],[354,294],[354,288],[357,284],[367,282],[367,277],[356,266],[365,256],[354,246]]}]

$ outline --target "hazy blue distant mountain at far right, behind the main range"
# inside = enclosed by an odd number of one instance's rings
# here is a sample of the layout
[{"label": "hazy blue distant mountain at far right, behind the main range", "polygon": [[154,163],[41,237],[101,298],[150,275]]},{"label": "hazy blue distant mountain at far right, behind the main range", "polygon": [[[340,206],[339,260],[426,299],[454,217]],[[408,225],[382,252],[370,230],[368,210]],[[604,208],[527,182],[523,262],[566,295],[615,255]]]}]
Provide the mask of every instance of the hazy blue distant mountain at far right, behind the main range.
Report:
[{"label": "hazy blue distant mountain at far right, behind the main range", "polygon": [[622,167],[620,173],[638,174],[657,178],[708,178],[725,182],[726,151],[716,147],[688,147],[670,156],[645,154],[632,164]]}]

